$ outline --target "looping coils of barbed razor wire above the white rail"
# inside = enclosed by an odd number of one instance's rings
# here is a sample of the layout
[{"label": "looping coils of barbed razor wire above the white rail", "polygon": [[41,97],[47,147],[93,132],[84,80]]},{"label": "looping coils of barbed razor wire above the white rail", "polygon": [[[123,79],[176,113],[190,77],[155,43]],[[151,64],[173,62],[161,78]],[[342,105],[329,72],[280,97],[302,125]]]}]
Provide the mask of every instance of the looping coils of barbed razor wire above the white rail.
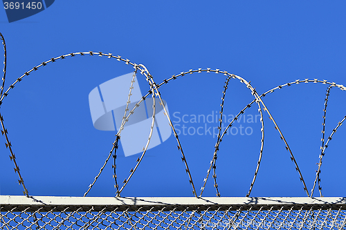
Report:
[{"label": "looping coils of barbed razor wire above the white rail", "polygon": [[[5,45],[5,42],[4,42],[4,39],[1,35],[1,40],[3,41],[3,44],[4,44],[4,50],[6,51],[6,45]],[[143,159],[144,155],[145,155],[145,152],[147,151],[147,148],[149,146],[149,142],[150,142],[150,139],[151,139],[151,136],[152,136],[152,132],[153,132],[153,128],[154,128],[154,122],[155,122],[155,110],[156,110],[156,105],[155,105],[155,98],[158,97],[158,99],[160,100],[160,105],[163,106],[163,110],[164,110],[164,113],[165,115],[167,116],[167,120],[170,124],[170,126],[172,127],[172,130],[174,132],[174,136],[176,137],[176,141],[178,143],[178,148],[179,150],[181,151],[181,154],[183,157],[181,157],[181,159],[183,160],[184,164],[185,164],[185,171],[188,173],[188,176],[189,176],[189,181],[190,181],[190,184],[192,184],[192,193],[197,196],[197,193],[196,193],[196,190],[194,189],[194,183],[192,181],[192,176],[191,176],[191,173],[190,173],[190,170],[188,168],[188,162],[185,158],[185,154],[183,153],[183,148],[181,147],[181,143],[179,141],[179,137],[178,135],[176,134],[176,131],[174,129],[174,126],[172,124],[172,121],[170,120],[170,116],[169,114],[167,113],[166,109],[165,109],[165,105],[163,103],[163,99],[161,98],[161,94],[160,92],[158,91],[158,88],[160,88],[161,86],[163,86],[163,84],[167,84],[168,82],[170,82],[171,80],[174,80],[176,79],[177,77],[182,77],[184,75],[187,75],[187,74],[192,74],[192,73],[202,73],[202,72],[206,72],[206,73],[223,73],[224,75],[227,76],[227,79],[226,79],[226,86],[224,91],[223,91],[223,97],[222,97],[222,103],[221,103],[221,111],[220,111],[220,114],[221,114],[221,118],[220,118],[220,124],[219,124],[219,134],[218,134],[218,138],[217,138],[217,144],[215,144],[215,152],[214,154],[212,155],[212,160],[210,162],[210,165],[212,165],[212,168],[214,169],[214,181],[215,181],[215,188],[217,189],[218,188],[218,185],[217,185],[217,182],[216,182],[216,160],[217,160],[217,151],[219,151],[219,144],[221,143],[222,141],[222,138],[224,137],[224,135],[226,134],[226,132],[228,131],[228,128],[230,128],[233,124],[233,122],[235,120],[237,120],[237,117],[239,117],[239,115],[243,114],[244,111],[246,110],[246,108],[250,108],[251,107],[251,104],[253,104],[254,102],[256,102],[256,104],[259,106],[259,113],[261,115],[261,122],[262,122],[262,128],[261,128],[261,132],[262,132],[262,140],[261,140],[261,150],[260,150],[260,157],[259,157],[259,160],[257,162],[257,167],[256,167],[256,170],[255,170],[255,175],[254,175],[254,178],[253,178],[253,181],[251,182],[251,187],[247,193],[246,196],[249,196],[250,193],[251,193],[251,190],[253,188],[253,184],[255,183],[255,179],[256,179],[256,176],[257,176],[257,173],[258,173],[258,170],[259,170],[259,167],[260,167],[260,162],[261,162],[261,159],[262,159],[262,152],[263,152],[263,144],[264,144],[264,123],[263,123],[263,115],[262,115],[262,107],[264,109],[264,111],[266,111],[266,113],[268,114],[269,118],[271,119],[271,121],[273,122],[275,128],[277,129],[277,131],[280,133],[280,138],[284,141],[284,144],[286,146],[286,150],[289,151],[290,155],[291,155],[291,160],[294,162],[295,164],[295,169],[298,171],[299,175],[300,175],[300,180],[302,181],[303,185],[304,185],[304,191],[307,192],[307,195],[310,196],[309,194],[309,191],[307,191],[307,186],[304,182],[304,179],[302,177],[302,173],[300,172],[300,169],[298,167],[298,163],[295,161],[295,158],[293,156],[293,153],[291,152],[291,149],[289,148],[289,144],[286,142],[286,140],[284,139],[284,136],[282,134],[282,132],[280,131],[280,128],[277,126],[277,123],[275,122],[275,120],[273,119],[273,116],[271,115],[271,113],[268,111],[268,108],[266,107],[266,105],[264,104],[263,100],[262,100],[262,97],[264,97],[266,94],[268,93],[273,93],[274,90],[277,90],[277,89],[281,89],[283,88],[284,86],[291,86],[293,84],[300,84],[300,83],[309,83],[309,82],[313,82],[313,83],[322,83],[322,84],[329,84],[331,87],[338,87],[340,88],[341,90],[346,90],[345,86],[343,85],[340,85],[340,84],[335,84],[334,82],[327,82],[326,80],[323,80],[323,81],[320,81],[318,79],[304,79],[304,80],[296,80],[295,82],[290,82],[290,83],[287,83],[287,84],[283,84],[283,85],[280,85],[280,86],[277,86],[271,90],[268,90],[266,93],[263,93],[262,95],[258,95],[257,94],[257,91],[255,90],[255,88],[253,88],[253,86],[251,86],[250,82],[246,82],[245,79],[243,79],[242,77],[239,77],[237,75],[233,75],[233,74],[230,74],[228,73],[227,71],[220,71],[219,69],[216,69],[216,70],[212,70],[210,68],[206,68],[206,69],[201,69],[199,68],[198,70],[189,70],[187,72],[181,72],[179,75],[173,75],[172,77],[170,77],[170,79],[165,79],[161,84],[156,84],[156,82],[154,82],[154,78],[152,77],[152,75],[150,75],[149,71],[147,70],[147,68],[143,65],[143,64],[134,64],[132,62],[129,61],[129,59],[123,59],[121,58],[120,56],[115,56],[115,55],[112,55],[111,53],[104,53],[104,52],[92,52],[92,51],[89,51],[89,52],[72,52],[70,54],[67,54],[67,55],[62,55],[60,57],[55,57],[55,58],[51,58],[49,59],[48,61],[44,61],[42,62],[42,64],[39,64],[38,66],[35,66],[34,68],[28,70],[26,73],[24,73],[24,75],[21,75],[21,77],[19,77],[14,83],[12,83],[10,85],[10,87],[8,88],[8,90],[6,90],[5,93],[3,93],[3,88],[1,88],[1,96],[0,96],[0,103],[3,102],[3,99],[5,97],[8,96],[8,93],[9,91],[15,87],[15,85],[18,83],[18,82],[21,82],[21,80],[25,77],[25,76],[28,76],[30,75],[31,72],[33,71],[36,71],[38,70],[40,67],[42,66],[46,66],[47,64],[50,64],[50,63],[53,63],[59,59],[65,59],[66,57],[75,57],[76,55],[80,55],[80,56],[84,56],[84,55],[98,55],[100,57],[109,57],[109,58],[115,58],[117,59],[118,61],[122,61],[124,62],[125,64],[129,64],[131,66],[133,66],[135,68],[135,70],[140,70],[140,74],[141,75],[144,75],[145,76],[145,79],[147,80],[148,84],[149,84],[149,87],[150,87],[150,90],[149,90],[149,93],[147,93],[147,95],[145,95],[141,100],[140,102],[138,102],[134,108],[129,112],[129,115],[127,115],[127,117],[124,119],[124,117],[126,116],[127,114],[127,111],[125,111],[125,115],[122,119],[122,125],[120,126],[119,128],[119,131],[116,135],[116,140],[113,142],[113,147],[111,148],[111,151],[109,153],[109,156],[107,157],[107,160],[104,162],[104,165],[102,166],[102,168],[100,169],[100,172],[98,173],[98,175],[95,177],[93,183],[89,186],[89,189],[88,191],[86,191],[86,193],[84,193],[84,196],[90,191],[91,187],[93,186],[93,184],[95,184],[96,180],[98,179],[98,177],[100,176],[100,173],[102,173],[103,169],[104,169],[104,166],[106,166],[111,154],[113,153],[114,151],[114,164],[113,164],[113,167],[114,167],[114,178],[115,178],[115,186],[116,186],[116,189],[117,189],[117,195],[120,196],[120,193],[121,191],[125,188],[126,184],[129,182],[130,178],[132,175],[134,175],[134,172],[136,171],[136,169],[138,168],[141,160]],[[5,52],[5,60],[6,60],[6,52]],[[4,61],[4,64],[6,66],[6,61]],[[6,75],[6,68],[4,68],[4,75],[3,75],[3,82],[2,82],[2,85],[4,86],[5,84],[5,75]],[[251,90],[251,93],[252,95],[255,97],[255,99],[253,100],[253,102],[249,103],[246,107],[243,108],[242,111],[240,111],[238,113],[238,115],[230,122],[230,124],[228,124],[228,126],[226,127],[225,131],[222,133],[222,135],[220,135],[221,133],[221,124],[222,124],[222,113],[223,113],[223,102],[224,102],[224,98],[225,98],[225,95],[226,95],[226,88],[228,86],[228,81],[230,78],[233,78],[233,79],[239,79],[240,82],[242,82],[243,84],[246,85],[246,87]],[[131,91],[130,91],[130,94],[131,94]],[[117,175],[116,175],[116,149],[118,148],[118,140],[120,140],[120,133],[125,125],[125,123],[127,122],[127,120],[129,119],[129,117],[131,116],[131,114],[134,113],[135,109],[139,106],[139,104],[141,102],[143,102],[145,100],[145,98],[148,96],[148,95],[152,95],[152,99],[153,99],[153,115],[152,115],[152,126],[151,126],[151,130],[150,130],[150,133],[149,133],[149,137],[148,137],[148,140],[147,140],[147,144],[143,147],[143,153],[140,157],[138,157],[138,160],[137,160],[137,163],[136,163],[136,166],[131,169],[130,171],[130,175],[124,180],[123,182],[123,185],[120,189],[118,189],[118,182],[116,180],[117,178]],[[129,100],[128,100],[129,102]],[[8,140],[8,135],[7,135],[7,130],[3,124],[3,118],[0,114],[0,117],[1,117],[1,126],[3,128],[3,131],[1,131],[1,133],[3,133],[5,136],[6,136],[6,146],[8,148],[10,148],[12,146],[12,144],[10,144],[10,141]],[[327,144],[329,143],[329,140],[331,140],[331,137],[334,135],[334,133],[336,132],[337,128],[343,124],[343,122],[345,121],[346,119],[346,116],[338,123],[338,125],[336,126],[336,128],[334,128],[334,130],[332,131],[331,135],[329,135],[328,137],[328,140],[325,144],[325,146],[323,146],[322,148],[322,153],[320,155],[320,163],[318,164],[318,171],[316,173],[316,177],[318,178],[318,182],[320,182],[319,180],[319,173],[320,173],[320,166],[322,164],[322,156],[325,154],[325,149],[327,148]],[[325,122],[324,122],[325,123]],[[11,160],[15,159],[15,155],[14,153],[12,152],[12,148],[10,148],[10,153],[11,153]],[[16,173],[18,172],[19,174],[19,166],[17,165],[17,163],[15,162],[15,171]],[[205,183],[203,184],[203,187],[201,189],[201,195],[203,193],[203,189],[206,185],[206,180],[208,180],[208,175],[210,173],[210,170],[208,170],[208,173],[207,173],[207,177],[205,178]],[[19,183],[22,184],[24,186],[24,180],[21,178],[21,175],[19,174]],[[316,184],[316,180],[315,180],[315,183],[314,183],[314,186]],[[313,186],[313,189],[314,189],[314,186]],[[311,190],[311,195],[313,194],[313,189]],[[26,187],[24,186],[24,194],[25,195],[28,195],[28,192],[27,192],[27,189]],[[217,195],[219,196],[219,191],[217,189]],[[322,195],[322,194],[321,194]]]}]

